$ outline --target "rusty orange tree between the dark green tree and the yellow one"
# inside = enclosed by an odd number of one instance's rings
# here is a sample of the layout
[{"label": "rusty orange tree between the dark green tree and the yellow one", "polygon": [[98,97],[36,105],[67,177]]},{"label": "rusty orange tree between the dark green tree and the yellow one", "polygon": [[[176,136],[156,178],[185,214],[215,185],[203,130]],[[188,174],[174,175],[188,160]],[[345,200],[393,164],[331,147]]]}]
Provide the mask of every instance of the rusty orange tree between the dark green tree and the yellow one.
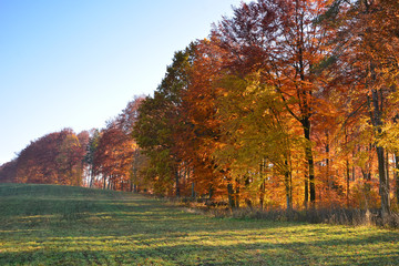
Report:
[{"label": "rusty orange tree between the dark green tree and the yellow one", "polygon": [[196,43],[190,83],[181,104],[182,134],[177,135],[178,153],[190,166],[195,193],[213,200],[225,195],[234,196],[234,181],[227,165],[217,165],[214,151],[221,141],[219,120],[216,117],[217,99],[221,95],[216,83],[224,75],[221,50],[213,40]]}]

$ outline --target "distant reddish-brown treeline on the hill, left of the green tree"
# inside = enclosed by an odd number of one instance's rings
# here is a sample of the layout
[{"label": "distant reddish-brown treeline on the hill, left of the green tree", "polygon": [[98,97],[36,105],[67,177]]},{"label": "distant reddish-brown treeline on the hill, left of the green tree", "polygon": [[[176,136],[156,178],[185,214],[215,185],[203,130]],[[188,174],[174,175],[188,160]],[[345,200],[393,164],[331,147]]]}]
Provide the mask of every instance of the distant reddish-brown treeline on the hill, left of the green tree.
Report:
[{"label": "distant reddish-brown treeline on the hill, left of the green tree", "polygon": [[104,129],[79,134],[64,129],[31,142],[0,166],[0,182],[147,191],[142,173],[146,160],[132,137],[142,101],[129,102]]}]

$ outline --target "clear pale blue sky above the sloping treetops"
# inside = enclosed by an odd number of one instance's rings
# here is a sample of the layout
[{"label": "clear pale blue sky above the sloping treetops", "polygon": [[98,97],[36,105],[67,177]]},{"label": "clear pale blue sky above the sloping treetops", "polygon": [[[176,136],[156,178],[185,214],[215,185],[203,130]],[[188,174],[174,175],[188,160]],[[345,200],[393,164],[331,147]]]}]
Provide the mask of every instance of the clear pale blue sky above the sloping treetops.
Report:
[{"label": "clear pale blue sky above the sloping treetops", "polygon": [[0,0],[0,165],[51,132],[104,127],[239,3]]}]

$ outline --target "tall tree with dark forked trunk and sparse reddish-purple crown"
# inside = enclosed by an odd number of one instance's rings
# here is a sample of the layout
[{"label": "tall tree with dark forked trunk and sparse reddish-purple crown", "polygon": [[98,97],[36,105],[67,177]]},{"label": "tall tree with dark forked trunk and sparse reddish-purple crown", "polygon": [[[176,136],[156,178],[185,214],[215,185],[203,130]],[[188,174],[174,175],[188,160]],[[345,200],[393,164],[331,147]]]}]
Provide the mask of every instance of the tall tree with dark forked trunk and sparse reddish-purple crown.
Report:
[{"label": "tall tree with dark forked trunk and sparse reddish-purple crown", "polygon": [[213,34],[228,52],[229,68],[237,75],[259,71],[262,82],[273,86],[303,130],[305,205],[316,201],[315,163],[311,149],[311,116],[319,90],[315,66],[323,59],[325,32],[315,23],[325,1],[258,0],[243,3],[225,18]]}]

